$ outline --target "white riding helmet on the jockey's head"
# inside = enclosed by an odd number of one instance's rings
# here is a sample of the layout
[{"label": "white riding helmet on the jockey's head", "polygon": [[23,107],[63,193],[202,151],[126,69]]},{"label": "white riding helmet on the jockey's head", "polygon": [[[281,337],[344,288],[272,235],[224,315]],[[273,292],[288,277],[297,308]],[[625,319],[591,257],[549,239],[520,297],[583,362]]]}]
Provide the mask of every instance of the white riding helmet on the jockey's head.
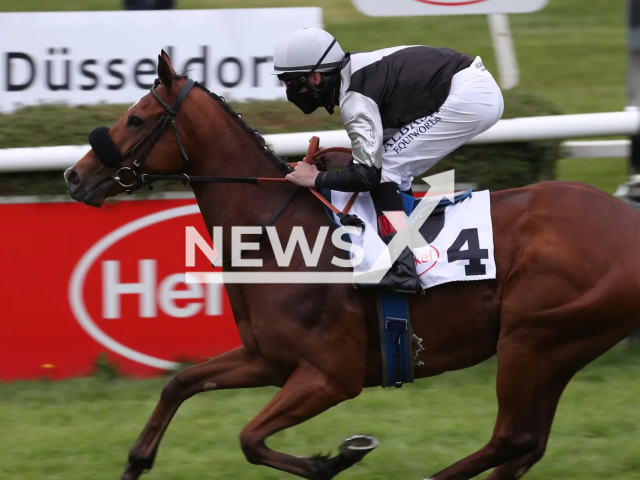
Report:
[{"label": "white riding helmet on the jockey's head", "polygon": [[328,72],[340,67],[343,58],[344,51],[329,32],[302,28],[277,43],[271,73]]}]

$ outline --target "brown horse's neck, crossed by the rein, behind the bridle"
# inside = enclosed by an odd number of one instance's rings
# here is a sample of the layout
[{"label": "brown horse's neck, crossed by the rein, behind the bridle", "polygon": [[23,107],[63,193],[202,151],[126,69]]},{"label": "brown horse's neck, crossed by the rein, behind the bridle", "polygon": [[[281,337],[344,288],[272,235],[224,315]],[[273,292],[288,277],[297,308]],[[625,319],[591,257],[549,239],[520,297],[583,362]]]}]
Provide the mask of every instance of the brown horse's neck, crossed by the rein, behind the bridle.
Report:
[{"label": "brown horse's neck, crossed by the rein, behind the bridle", "polygon": [[[199,121],[190,122],[189,138],[198,142],[192,143],[195,148],[190,153],[191,175],[282,178],[282,173],[222,107],[214,105],[213,109],[198,113]],[[264,225],[293,185],[193,183],[192,189],[209,233],[213,227],[222,227],[226,259],[231,253],[231,227]]]}]

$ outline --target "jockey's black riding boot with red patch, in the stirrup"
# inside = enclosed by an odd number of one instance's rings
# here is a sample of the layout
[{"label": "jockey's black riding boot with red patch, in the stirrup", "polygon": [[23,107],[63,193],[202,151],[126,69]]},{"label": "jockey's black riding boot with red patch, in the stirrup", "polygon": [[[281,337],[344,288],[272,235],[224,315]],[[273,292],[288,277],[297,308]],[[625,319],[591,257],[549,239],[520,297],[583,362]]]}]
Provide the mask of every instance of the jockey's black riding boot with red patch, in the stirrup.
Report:
[{"label": "jockey's black riding boot with red patch, in the stirrup", "polygon": [[[382,241],[389,245],[391,240],[396,236],[397,231],[387,218],[387,216],[395,216],[404,221],[404,202],[400,195],[400,189],[395,183],[382,183],[378,188],[371,192],[373,205],[378,215],[378,228]],[[388,215],[385,215],[387,212]],[[399,222],[395,222],[396,225]],[[404,229],[408,229],[407,225],[403,225]],[[402,253],[398,256],[393,265],[387,271],[385,276],[378,284],[359,284],[357,288],[376,288],[383,290],[392,290],[401,293],[417,293],[420,291],[420,279],[416,273],[416,264],[411,249],[406,246]]]}]

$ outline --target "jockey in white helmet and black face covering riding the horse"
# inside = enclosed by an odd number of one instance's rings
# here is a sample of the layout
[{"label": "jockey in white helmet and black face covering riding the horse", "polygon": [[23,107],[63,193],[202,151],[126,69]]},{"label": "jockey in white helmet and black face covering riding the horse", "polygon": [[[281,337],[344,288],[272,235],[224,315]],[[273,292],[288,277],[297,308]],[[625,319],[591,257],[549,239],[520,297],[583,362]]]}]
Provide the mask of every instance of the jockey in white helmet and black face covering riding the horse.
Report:
[{"label": "jockey in white helmet and black face covering riding the horse", "polygon": [[[318,190],[370,191],[387,244],[396,233],[388,217],[398,212],[404,219],[400,192],[410,193],[414,177],[495,125],[504,110],[482,59],[448,48],[345,54],[328,32],[304,28],[278,42],[273,63],[287,99],[305,114],[318,107],[333,114],[340,106],[353,150],[353,162],[342,171],[319,172],[300,162],[287,179]],[[381,286],[419,290],[408,247]]]}]

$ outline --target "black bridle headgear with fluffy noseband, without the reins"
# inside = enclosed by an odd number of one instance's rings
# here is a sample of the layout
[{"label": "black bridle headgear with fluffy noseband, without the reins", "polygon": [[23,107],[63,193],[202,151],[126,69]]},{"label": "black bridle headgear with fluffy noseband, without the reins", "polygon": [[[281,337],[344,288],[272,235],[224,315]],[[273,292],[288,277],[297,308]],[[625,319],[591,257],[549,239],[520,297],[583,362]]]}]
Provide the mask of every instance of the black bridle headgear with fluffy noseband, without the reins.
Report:
[{"label": "black bridle headgear with fluffy noseband, without the reins", "polygon": [[[132,193],[133,190],[131,190],[131,188],[136,184],[144,185],[149,190],[153,190],[155,188],[151,183],[145,181],[146,175],[139,175],[136,172],[136,168],[139,168],[142,165],[142,162],[144,162],[153,146],[158,142],[160,136],[169,125],[173,127],[173,132],[176,135],[176,141],[178,142],[178,148],[180,149],[180,155],[182,156],[183,167],[189,161],[187,152],[185,152],[184,147],[182,146],[182,141],[180,140],[180,135],[178,134],[176,115],[178,115],[180,107],[195,84],[195,80],[190,78],[187,79],[180,89],[180,93],[178,93],[178,98],[176,98],[175,103],[172,106],[169,106],[156,93],[156,88],[160,85],[160,81],[156,80],[153,87],[151,87],[151,96],[162,108],[164,108],[166,113],[158,119],[149,133],[142,137],[142,139],[125,154],[120,153],[120,149],[111,139],[109,129],[107,127],[98,127],[89,134],[89,144],[102,164],[106,167],[119,167],[114,180],[118,182],[120,186],[125,188],[127,193]],[[147,147],[142,151],[140,156],[133,161],[133,166],[122,166],[122,162],[128,157],[132,157],[142,145],[147,143],[148,140],[149,143]],[[129,180],[126,178],[127,176],[130,177]],[[186,179],[188,180],[189,178],[186,177]]]}]

